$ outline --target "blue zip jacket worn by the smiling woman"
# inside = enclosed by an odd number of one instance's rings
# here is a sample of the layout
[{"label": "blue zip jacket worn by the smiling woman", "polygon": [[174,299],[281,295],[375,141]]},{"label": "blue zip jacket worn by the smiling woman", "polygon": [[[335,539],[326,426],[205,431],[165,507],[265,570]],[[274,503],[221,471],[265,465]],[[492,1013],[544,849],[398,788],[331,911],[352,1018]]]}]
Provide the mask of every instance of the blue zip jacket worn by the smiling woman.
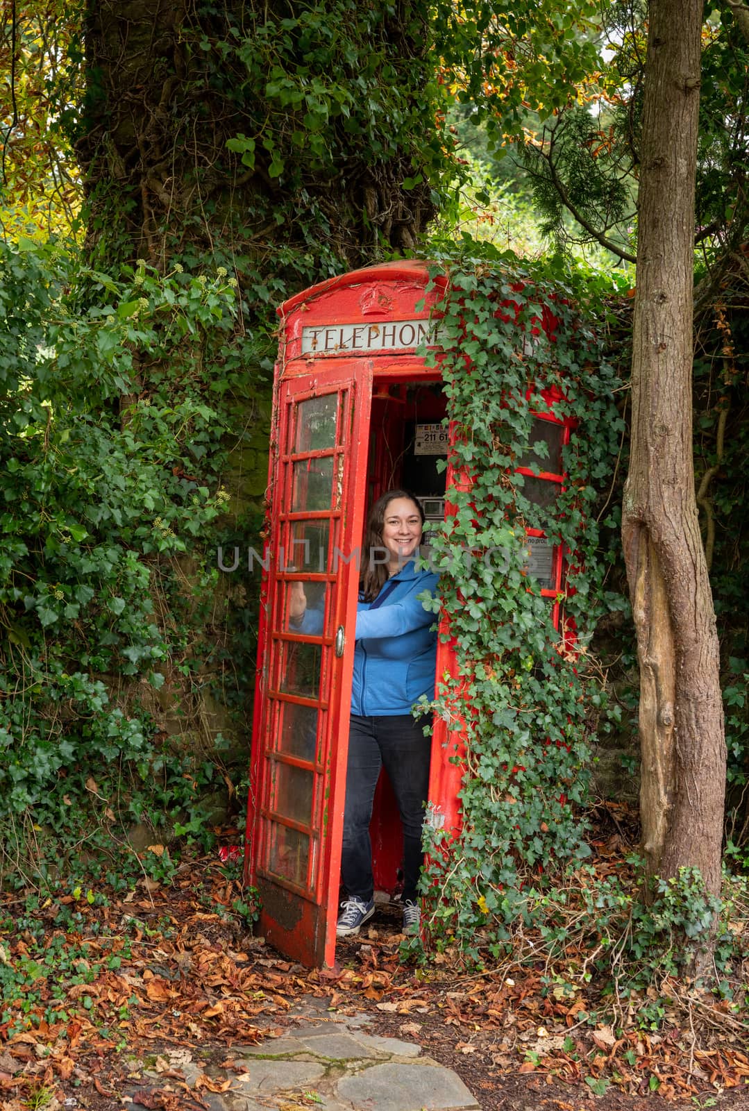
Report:
[{"label": "blue zip jacket worn by the smiling woman", "polygon": [[[386,582],[382,590],[396,585],[381,605],[371,609],[371,602],[359,602],[351,713],[389,718],[410,713],[422,694],[435,697],[437,633],[430,625],[437,617],[418,595],[433,593],[437,579],[431,571],[417,571],[410,560]],[[314,635],[321,624],[322,614],[308,609],[297,628]]]}]

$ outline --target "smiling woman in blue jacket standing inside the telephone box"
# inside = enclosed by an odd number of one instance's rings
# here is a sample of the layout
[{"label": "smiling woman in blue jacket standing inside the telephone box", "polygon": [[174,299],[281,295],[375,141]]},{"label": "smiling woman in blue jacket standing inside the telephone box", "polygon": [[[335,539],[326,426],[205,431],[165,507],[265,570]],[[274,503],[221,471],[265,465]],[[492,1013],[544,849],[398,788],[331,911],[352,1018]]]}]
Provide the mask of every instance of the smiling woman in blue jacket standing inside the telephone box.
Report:
[{"label": "smiling woman in blue jacket standing inside the telephone box", "polygon": [[[357,611],[351,690],[351,724],[346,777],[346,810],[338,937],[359,932],[374,913],[369,823],[374,789],[385,770],[403,827],[403,930],[416,932],[420,909],[417,884],[422,862],[421,829],[429,787],[431,740],[411,707],[435,694],[435,614],[419,595],[433,592],[437,575],[417,571],[415,557],[423,510],[408,490],[389,490],[369,514]],[[312,624],[301,583],[291,600],[297,628]]]}]

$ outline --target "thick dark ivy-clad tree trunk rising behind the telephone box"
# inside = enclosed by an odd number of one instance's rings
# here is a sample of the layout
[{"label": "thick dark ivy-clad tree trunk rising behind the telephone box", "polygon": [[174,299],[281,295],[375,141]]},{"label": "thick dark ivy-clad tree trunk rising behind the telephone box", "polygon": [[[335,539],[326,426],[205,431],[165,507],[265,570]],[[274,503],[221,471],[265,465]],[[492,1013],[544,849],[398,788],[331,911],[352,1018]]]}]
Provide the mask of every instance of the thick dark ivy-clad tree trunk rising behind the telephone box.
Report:
[{"label": "thick dark ivy-clad tree trunk rising behind the telephone box", "polygon": [[[396,249],[413,247],[435,214],[419,172],[422,134],[408,117],[409,103],[418,117],[430,76],[428,27],[408,0],[372,7],[369,21],[337,31],[353,58],[349,71],[334,71],[333,62],[324,72],[316,69],[323,64],[316,49],[326,41],[323,9],[329,23],[340,23],[334,0],[307,12],[317,24],[304,23],[306,10],[287,0],[90,4],[77,142],[90,248],[103,239],[110,263],[140,257],[166,268],[170,256],[194,247],[267,263],[283,244],[307,257],[334,256],[344,268],[368,261],[378,237]],[[291,23],[299,24],[294,41]],[[366,61],[374,71],[369,87],[358,82]],[[269,96],[271,77],[280,91]],[[400,131],[395,123],[388,131],[382,104],[379,120],[370,109],[374,92],[385,104],[392,92]],[[311,106],[320,107],[316,119]],[[238,136],[256,144],[249,161],[228,146]],[[408,178],[415,184],[405,188]],[[276,267],[278,274],[278,260]],[[323,267],[314,277],[326,276]]]}]

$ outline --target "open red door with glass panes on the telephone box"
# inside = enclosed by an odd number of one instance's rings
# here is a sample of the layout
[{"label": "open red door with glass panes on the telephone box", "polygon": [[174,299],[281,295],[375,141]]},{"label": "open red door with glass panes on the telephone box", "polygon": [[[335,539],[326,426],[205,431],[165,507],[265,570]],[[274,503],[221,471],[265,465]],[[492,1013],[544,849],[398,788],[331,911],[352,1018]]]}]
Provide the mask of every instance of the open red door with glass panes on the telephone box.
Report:
[{"label": "open red door with glass panes on the telephone box", "polygon": [[261,931],[308,965],[334,960],[371,380],[349,360],[288,378],[273,418],[249,875]]}]

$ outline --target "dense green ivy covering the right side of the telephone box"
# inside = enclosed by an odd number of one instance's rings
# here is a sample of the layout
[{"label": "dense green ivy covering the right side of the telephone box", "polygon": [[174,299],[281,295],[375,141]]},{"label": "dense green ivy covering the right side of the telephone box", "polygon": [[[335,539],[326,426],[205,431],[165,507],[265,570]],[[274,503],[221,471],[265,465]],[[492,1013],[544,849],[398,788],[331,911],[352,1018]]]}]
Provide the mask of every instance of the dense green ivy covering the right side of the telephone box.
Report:
[{"label": "dense green ivy covering the right side of the telephone box", "polygon": [[[498,952],[528,913],[531,875],[553,877],[589,852],[587,718],[603,701],[587,659],[603,574],[591,507],[621,432],[619,382],[591,324],[602,287],[505,256],[457,267],[443,306],[450,350],[440,366],[459,429],[451,462],[471,482],[451,496],[456,514],[435,543],[460,661],[456,680],[438,675],[436,709],[452,723],[463,699],[470,710],[459,849],[432,834],[425,890],[433,941],[473,953],[479,939]],[[579,421],[563,451],[569,479],[551,506],[533,501],[516,472],[529,453],[539,469],[548,457],[531,433],[533,413],[547,411],[542,390],[556,416]],[[560,633],[555,599],[527,572],[527,527],[568,552]]]}]

